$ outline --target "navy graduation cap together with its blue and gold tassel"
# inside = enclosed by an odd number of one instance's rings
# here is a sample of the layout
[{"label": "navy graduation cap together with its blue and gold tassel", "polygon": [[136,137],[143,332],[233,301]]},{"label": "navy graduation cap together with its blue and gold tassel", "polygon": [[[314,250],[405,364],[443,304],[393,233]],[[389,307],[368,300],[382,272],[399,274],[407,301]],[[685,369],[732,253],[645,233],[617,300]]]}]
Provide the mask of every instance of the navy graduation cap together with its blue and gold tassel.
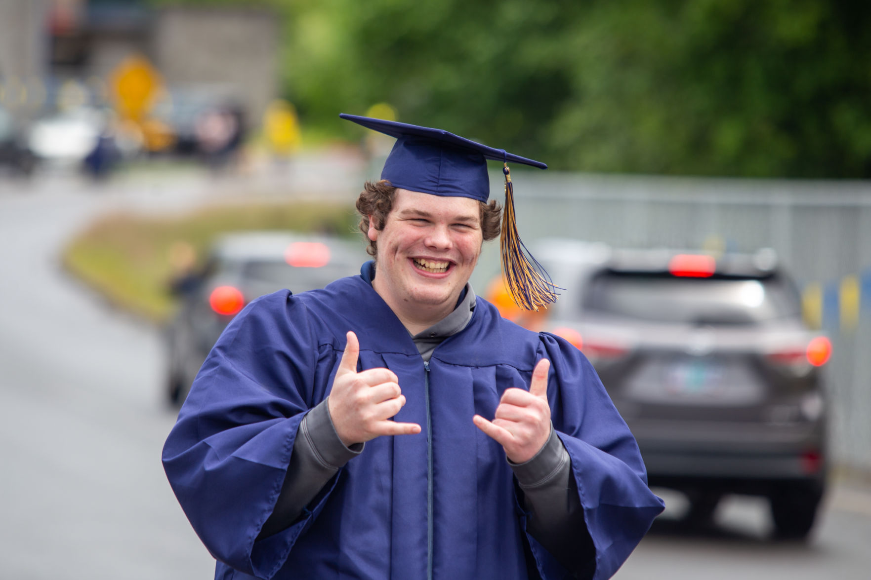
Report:
[{"label": "navy graduation cap together with its blue and gold tassel", "polygon": [[340,113],[339,117],[396,138],[381,170],[381,179],[408,191],[486,202],[490,197],[487,159],[502,161],[505,206],[500,250],[502,271],[511,297],[517,306],[527,310],[538,310],[557,300],[556,290],[560,288],[550,281],[550,276],[523,246],[517,233],[514,186],[508,168],[509,162],[540,169],[547,169],[547,165],[442,129],[346,113]]}]

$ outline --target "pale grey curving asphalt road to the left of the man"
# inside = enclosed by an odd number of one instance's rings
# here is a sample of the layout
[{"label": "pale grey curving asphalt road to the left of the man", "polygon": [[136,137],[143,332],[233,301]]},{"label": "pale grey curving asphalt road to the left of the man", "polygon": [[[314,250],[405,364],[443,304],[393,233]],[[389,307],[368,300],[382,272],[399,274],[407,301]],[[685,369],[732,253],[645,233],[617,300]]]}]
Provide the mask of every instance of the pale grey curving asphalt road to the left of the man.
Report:
[{"label": "pale grey curving asphalt road to the left of the man", "polygon": [[54,178],[0,185],[2,578],[213,577],[160,467],[175,417],[159,398],[158,333],[58,260],[98,213],[181,205],[162,195]]}]

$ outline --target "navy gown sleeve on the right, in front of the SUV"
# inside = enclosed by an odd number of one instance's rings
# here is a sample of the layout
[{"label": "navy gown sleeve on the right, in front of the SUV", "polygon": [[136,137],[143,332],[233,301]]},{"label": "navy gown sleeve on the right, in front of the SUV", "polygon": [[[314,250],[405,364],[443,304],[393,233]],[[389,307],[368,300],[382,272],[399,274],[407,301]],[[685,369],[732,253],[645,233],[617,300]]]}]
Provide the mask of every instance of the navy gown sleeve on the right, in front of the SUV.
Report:
[{"label": "navy gown sleeve on the right, in front of the SUV", "polygon": [[[571,457],[571,475],[595,547],[593,578],[610,578],[635,549],[664,504],[647,487],[638,444],[596,371],[577,347],[542,333],[539,358],[553,368],[548,385],[551,421]],[[527,535],[544,578],[565,572]]]}]

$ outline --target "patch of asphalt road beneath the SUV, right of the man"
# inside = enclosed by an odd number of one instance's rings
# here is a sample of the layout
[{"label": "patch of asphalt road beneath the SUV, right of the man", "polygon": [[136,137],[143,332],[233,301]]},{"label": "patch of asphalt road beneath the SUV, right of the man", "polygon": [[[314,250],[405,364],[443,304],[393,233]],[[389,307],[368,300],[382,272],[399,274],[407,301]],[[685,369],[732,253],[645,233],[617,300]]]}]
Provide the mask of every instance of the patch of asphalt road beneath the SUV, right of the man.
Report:
[{"label": "patch of asphalt road beneath the SUV, right of the man", "polygon": [[871,493],[837,482],[807,543],[770,537],[761,498],[726,497],[705,529],[681,523],[681,496],[659,490],[666,511],[620,569],[618,580],[868,580]]}]

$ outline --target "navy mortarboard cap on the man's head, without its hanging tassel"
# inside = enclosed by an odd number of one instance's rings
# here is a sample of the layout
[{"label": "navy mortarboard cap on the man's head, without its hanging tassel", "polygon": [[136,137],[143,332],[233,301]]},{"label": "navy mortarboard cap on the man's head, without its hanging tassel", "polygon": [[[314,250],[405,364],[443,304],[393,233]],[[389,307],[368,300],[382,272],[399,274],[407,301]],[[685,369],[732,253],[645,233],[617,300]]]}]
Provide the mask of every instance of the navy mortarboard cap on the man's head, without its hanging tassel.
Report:
[{"label": "navy mortarboard cap on the man's head, without its hanging tassel", "polygon": [[487,201],[490,197],[487,159],[547,169],[541,161],[494,149],[442,129],[345,113],[339,117],[396,138],[381,179],[408,191]]}]

